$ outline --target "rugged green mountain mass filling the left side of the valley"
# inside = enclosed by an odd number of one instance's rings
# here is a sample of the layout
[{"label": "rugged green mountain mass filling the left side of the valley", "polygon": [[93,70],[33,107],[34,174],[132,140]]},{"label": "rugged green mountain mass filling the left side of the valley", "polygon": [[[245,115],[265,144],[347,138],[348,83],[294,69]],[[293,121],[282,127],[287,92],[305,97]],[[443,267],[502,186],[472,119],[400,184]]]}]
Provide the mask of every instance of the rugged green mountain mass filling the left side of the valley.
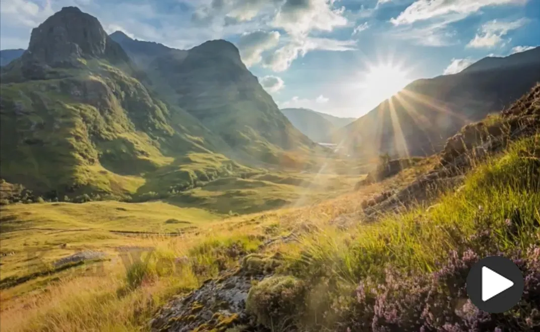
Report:
[{"label": "rugged green mountain mass filling the left side of the valley", "polygon": [[[179,59],[127,38],[126,53],[76,7],[32,30],[28,50],[0,72],[0,178],[51,198],[151,199],[250,171],[235,160],[295,166],[316,147],[231,43]],[[147,71],[131,58],[152,52],[137,60],[150,61]]]}]

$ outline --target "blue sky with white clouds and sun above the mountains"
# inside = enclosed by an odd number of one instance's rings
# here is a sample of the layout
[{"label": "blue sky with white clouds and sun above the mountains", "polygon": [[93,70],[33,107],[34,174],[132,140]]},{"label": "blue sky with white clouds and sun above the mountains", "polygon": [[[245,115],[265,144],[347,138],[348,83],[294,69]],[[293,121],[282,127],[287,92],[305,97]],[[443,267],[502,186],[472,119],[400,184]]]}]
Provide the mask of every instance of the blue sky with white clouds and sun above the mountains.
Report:
[{"label": "blue sky with white clouds and sun above the mountains", "polygon": [[189,49],[237,45],[281,108],[360,117],[407,83],[540,44],[540,0],[2,0],[0,49],[63,6]]}]

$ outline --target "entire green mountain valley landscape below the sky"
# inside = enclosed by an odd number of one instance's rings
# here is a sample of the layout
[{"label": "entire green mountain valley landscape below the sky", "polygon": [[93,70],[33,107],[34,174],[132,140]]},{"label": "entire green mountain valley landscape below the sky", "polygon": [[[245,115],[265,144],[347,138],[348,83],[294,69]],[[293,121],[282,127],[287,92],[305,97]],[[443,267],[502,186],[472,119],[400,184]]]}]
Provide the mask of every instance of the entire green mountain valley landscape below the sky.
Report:
[{"label": "entire green mountain valley landscape below the sky", "polygon": [[[110,30],[64,7],[2,51],[2,332],[540,327],[540,47],[339,118],[280,107],[240,42]],[[488,315],[490,255],[525,281]]]}]

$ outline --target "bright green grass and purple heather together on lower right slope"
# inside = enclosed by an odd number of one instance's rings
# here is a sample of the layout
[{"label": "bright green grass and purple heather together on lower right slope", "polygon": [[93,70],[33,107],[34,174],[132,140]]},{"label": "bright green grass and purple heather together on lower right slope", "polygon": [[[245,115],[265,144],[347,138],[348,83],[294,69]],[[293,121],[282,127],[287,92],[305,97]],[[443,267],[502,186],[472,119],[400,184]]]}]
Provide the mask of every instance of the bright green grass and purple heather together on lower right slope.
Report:
[{"label": "bright green grass and purple heather together on lower right slope", "polygon": [[[311,285],[295,328],[350,331],[532,331],[540,328],[540,136],[518,141],[465,176],[457,191],[355,231],[320,229],[289,246]],[[510,258],[521,302],[488,314],[469,301],[475,262]],[[316,301],[313,301],[316,299]]]}]

